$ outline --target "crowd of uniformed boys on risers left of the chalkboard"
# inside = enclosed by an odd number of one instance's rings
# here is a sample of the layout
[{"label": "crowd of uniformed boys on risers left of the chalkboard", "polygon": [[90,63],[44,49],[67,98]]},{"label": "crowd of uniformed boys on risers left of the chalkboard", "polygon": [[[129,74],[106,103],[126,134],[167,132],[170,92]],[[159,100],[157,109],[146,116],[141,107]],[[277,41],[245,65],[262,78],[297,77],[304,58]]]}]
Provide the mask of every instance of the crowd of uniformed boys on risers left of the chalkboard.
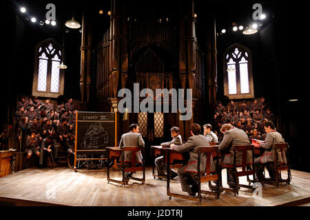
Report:
[{"label": "crowd of uniformed boys on risers left of the chalkboard", "polygon": [[15,124],[18,125],[19,141],[21,142],[21,133],[26,137],[26,161],[29,162],[34,153],[39,157],[39,167],[42,168],[44,154],[53,153],[57,162],[59,146],[56,140],[68,149],[68,153],[72,153],[76,122],[72,98],[54,109],[49,99],[41,103],[37,97],[26,100],[23,96],[17,104],[17,109],[19,110],[15,113]]}]

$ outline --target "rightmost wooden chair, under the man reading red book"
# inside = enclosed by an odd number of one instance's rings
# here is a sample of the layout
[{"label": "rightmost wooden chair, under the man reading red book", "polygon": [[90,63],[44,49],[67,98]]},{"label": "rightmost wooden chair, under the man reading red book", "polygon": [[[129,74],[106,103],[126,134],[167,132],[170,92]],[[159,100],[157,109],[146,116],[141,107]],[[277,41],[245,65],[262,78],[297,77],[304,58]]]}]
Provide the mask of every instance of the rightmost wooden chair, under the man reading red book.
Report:
[{"label": "rightmost wooden chair, under the man reading red book", "polygon": [[[283,155],[285,151],[287,152],[285,155],[287,157],[287,164],[284,162],[278,162],[278,153],[274,154],[274,162],[267,163],[266,166],[273,166],[271,169],[273,170],[273,175],[275,178],[265,178],[267,181],[259,181],[262,184],[269,184],[273,186],[279,187],[280,183],[285,183],[287,186],[291,182],[291,169],[289,168],[289,144],[288,143],[278,143],[278,144],[273,144],[273,148],[275,148],[275,152],[280,153],[280,156],[283,158]],[[283,159],[282,159],[283,160]],[[281,177],[281,171],[287,170],[287,179],[282,179]],[[265,172],[264,172],[265,173]],[[278,175],[279,173],[279,175]]]}]

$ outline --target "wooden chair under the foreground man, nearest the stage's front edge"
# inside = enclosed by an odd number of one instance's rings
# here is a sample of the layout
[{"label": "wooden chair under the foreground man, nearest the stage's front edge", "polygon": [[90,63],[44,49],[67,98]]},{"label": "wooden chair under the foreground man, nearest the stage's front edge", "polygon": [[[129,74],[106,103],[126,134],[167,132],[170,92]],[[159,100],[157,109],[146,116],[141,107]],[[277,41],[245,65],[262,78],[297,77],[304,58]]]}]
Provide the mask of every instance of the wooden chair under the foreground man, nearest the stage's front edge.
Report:
[{"label": "wooden chair under the foreground man, nearest the stage's front edge", "polygon": [[[206,168],[205,168],[205,173],[200,173],[200,154],[201,153],[206,153],[207,154],[207,162],[206,162]],[[201,203],[202,196],[201,194],[207,194],[207,195],[215,195],[216,199],[220,198],[220,182],[219,182],[219,177],[218,171],[220,170],[218,167],[218,157],[216,157],[216,170],[213,175],[211,175],[211,170],[210,170],[210,160],[211,160],[211,155],[218,155],[218,146],[199,146],[198,147],[198,164],[197,164],[197,170],[198,170],[198,203]],[[211,181],[216,181],[216,187],[211,188]],[[209,183],[209,188],[211,188],[211,191],[207,190],[201,190],[201,184],[208,182]]]}]

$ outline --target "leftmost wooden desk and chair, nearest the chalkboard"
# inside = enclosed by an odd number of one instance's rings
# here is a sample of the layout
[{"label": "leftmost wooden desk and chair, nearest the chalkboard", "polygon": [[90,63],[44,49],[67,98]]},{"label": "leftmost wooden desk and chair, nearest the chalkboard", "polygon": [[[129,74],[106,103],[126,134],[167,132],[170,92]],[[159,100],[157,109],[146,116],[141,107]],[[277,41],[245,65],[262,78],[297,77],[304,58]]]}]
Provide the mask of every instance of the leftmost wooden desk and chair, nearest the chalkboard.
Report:
[{"label": "leftmost wooden desk and chair, nearest the chalkboard", "polygon": [[[119,148],[118,148],[119,149]],[[112,148],[107,148],[107,162],[110,164],[110,159],[113,159],[114,155],[110,153],[112,151]],[[130,167],[125,167],[124,163],[124,153],[126,151],[132,152],[132,162],[130,163]],[[138,163],[136,160],[136,152],[141,151],[143,155],[143,166],[136,166]],[[126,179],[125,179],[125,173],[129,172],[136,172],[136,171],[143,171],[143,177],[142,178],[136,178],[136,177],[130,177],[130,179],[134,179],[136,181],[142,181],[142,184],[145,183],[145,149],[144,147],[138,147],[138,146],[125,146],[121,148],[121,170],[122,170],[122,180],[119,181],[117,179],[111,179],[110,178],[110,168],[107,166],[107,183],[109,184],[110,181],[116,182],[118,184],[121,184],[121,186],[126,185]]]}]

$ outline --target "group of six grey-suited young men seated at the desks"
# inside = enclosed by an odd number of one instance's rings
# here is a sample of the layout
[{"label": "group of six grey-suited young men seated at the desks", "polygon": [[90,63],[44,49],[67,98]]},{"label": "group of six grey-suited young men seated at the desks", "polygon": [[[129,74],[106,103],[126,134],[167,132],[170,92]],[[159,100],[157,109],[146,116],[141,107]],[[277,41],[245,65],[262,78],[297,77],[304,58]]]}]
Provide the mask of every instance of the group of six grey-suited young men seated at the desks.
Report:
[{"label": "group of six grey-suited young men seated at the desks", "polygon": [[[238,129],[231,124],[223,124],[220,131],[223,133],[223,140],[219,144],[219,150],[222,151],[223,157],[220,158],[220,170],[222,168],[227,168],[227,166],[231,166],[234,164],[234,149],[232,146],[239,145],[247,145],[250,144],[249,137],[245,131],[242,129]],[[171,178],[178,176],[180,180],[180,185],[183,192],[187,192],[190,196],[196,196],[196,192],[198,192],[198,176],[197,176],[197,162],[198,162],[198,146],[209,146],[209,142],[218,142],[217,136],[215,133],[211,131],[211,125],[204,125],[204,135],[200,134],[201,127],[199,124],[192,124],[191,126],[191,137],[182,144],[182,137],[179,134],[178,127],[174,126],[171,129],[172,141],[165,142],[161,144],[163,147],[170,146],[175,151],[181,153],[189,153],[189,160],[183,164],[182,168],[178,169],[178,173],[174,170],[170,172]],[[256,170],[256,178],[258,180],[265,180],[265,176],[263,175],[263,170],[265,169],[265,165],[268,162],[273,162],[273,153],[275,153],[275,149],[273,148],[273,144],[284,142],[282,135],[276,131],[276,127],[273,122],[265,123],[265,132],[267,133],[265,142],[260,142],[260,146],[265,149],[265,152],[262,155],[259,155],[254,159],[254,164],[252,164],[252,154],[251,151],[247,151],[247,164],[250,166],[251,164],[255,166]],[[125,133],[121,137],[120,148],[124,146],[141,146],[144,147],[144,141],[141,133],[139,133],[138,124],[132,124],[130,126],[130,132]],[[125,151],[124,151],[125,152]],[[241,164],[241,152],[237,152],[236,155],[236,164]],[[141,166],[143,160],[141,152],[136,152],[137,165]],[[200,172],[205,173],[205,167],[207,163],[206,154],[203,153],[200,155]],[[284,155],[283,160],[282,157],[279,158],[281,161],[285,162],[286,157]],[[132,161],[132,153],[126,152],[124,155],[124,162],[128,163]],[[163,160],[163,156],[155,159],[156,169],[158,176],[165,176],[167,173],[167,165]],[[210,170],[216,169],[215,162],[213,158],[210,159]],[[234,178],[231,175],[231,171],[234,168],[227,168],[228,179],[227,182],[234,183]],[[218,170],[218,172],[220,172]],[[267,170],[269,172],[269,176],[274,178],[275,172],[270,166],[267,166]],[[277,173],[278,175],[278,173]],[[125,178],[126,182],[129,181],[132,173],[126,173]],[[159,178],[161,179],[161,178]],[[238,178],[237,178],[238,181]],[[220,183],[222,184],[222,183]],[[230,185],[229,187],[234,187]]]}]

